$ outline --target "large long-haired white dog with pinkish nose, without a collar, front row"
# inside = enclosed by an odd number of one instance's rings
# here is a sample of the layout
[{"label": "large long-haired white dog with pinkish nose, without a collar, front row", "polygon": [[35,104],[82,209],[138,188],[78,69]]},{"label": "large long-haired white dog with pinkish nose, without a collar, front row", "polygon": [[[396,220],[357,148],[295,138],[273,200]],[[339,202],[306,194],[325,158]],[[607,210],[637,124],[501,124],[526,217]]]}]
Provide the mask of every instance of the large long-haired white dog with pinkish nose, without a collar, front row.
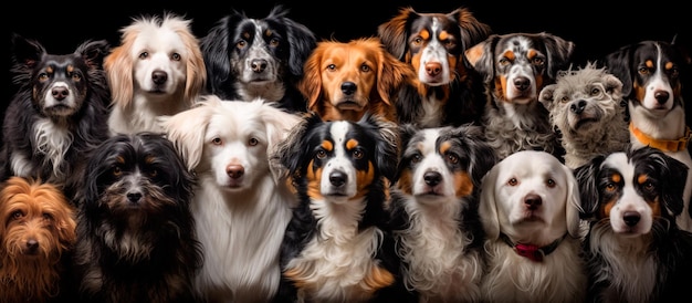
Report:
[{"label": "large long-haired white dog with pinkish nose, without a collar, front row", "polygon": [[280,247],[297,199],[268,155],[298,119],[264,100],[216,95],[159,118],[198,178],[191,208],[205,263],[196,289],[208,302],[266,302],[277,291]]}]

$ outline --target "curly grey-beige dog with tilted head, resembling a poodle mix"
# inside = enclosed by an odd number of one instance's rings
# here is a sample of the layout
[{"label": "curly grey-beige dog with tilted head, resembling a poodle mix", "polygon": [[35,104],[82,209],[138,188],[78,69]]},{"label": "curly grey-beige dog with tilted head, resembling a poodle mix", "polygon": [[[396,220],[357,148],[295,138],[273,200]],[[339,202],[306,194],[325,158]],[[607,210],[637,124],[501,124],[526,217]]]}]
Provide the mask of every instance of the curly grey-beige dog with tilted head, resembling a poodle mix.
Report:
[{"label": "curly grey-beige dog with tilted head, resembling a poodle mix", "polygon": [[605,67],[588,63],[562,71],[538,100],[559,132],[567,167],[574,169],[596,156],[627,148],[630,135],[622,82]]}]

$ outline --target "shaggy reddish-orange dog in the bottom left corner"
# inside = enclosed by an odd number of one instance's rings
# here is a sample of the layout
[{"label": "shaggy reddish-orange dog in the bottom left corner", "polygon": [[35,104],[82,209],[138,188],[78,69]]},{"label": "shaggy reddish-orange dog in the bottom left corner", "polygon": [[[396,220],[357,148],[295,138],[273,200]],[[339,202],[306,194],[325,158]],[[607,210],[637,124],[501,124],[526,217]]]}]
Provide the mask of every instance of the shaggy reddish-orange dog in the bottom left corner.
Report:
[{"label": "shaggy reddish-orange dog in the bottom left corner", "polygon": [[75,213],[54,185],[11,177],[0,191],[0,302],[66,299],[63,262],[75,243]]}]

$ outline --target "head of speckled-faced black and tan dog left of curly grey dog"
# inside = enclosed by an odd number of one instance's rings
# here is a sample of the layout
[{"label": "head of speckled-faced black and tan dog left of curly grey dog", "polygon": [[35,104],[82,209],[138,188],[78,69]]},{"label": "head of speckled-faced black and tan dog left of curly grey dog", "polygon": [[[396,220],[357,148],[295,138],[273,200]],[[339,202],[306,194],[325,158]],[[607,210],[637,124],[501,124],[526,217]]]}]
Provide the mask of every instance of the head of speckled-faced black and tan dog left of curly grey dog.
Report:
[{"label": "head of speckled-faced black and tan dog left of curly grey dog", "polygon": [[560,36],[541,33],[492,34],[465,54],[484,76],[490,96],[497,101],[527,104],[552,84],[574,53],[575,44]]}]

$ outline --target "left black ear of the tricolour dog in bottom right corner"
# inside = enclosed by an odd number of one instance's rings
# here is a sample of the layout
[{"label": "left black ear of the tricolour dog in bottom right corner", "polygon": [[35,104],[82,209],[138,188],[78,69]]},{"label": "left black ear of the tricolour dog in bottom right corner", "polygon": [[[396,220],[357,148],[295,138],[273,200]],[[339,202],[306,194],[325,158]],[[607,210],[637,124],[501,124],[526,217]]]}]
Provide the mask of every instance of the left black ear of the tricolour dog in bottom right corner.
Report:
[{"label": "left black ear of the tricolour dog in bottom right corner", "polygon": [[581,205],[579,218],[581,219],[594,219],[597,215],[596,212],[600,205],[597,181],[604,159],[605,156],[595,157],[587,164],[573,170],[573,175],[579,186],[579,203]]}]

